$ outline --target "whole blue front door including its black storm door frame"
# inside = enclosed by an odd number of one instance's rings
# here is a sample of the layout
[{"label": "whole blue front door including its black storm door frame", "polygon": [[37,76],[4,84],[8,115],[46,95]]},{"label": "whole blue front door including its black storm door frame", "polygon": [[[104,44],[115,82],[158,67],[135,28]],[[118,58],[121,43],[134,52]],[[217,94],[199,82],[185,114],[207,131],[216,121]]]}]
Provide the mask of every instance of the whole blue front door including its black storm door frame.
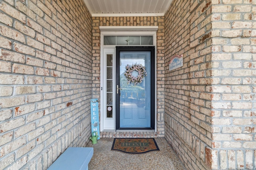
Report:
[{"label": "whole blue front door including its black storm door frame", "polygon": [[154,47],[116,47],[116,129],[154,129]]}]

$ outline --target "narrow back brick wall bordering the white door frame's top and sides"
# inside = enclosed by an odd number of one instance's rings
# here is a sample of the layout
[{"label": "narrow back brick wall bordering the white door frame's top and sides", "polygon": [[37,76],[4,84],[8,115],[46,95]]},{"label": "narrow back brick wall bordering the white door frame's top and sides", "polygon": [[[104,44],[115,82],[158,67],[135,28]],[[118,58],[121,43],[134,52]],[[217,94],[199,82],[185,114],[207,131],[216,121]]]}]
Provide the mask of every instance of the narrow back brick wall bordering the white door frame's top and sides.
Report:
[{"label": "narrow back brick wall bordering the white door frame's top and sides", "polygon": [[157,133],[164,136],[164,17],[92,17],[92,96],[100,98],[100,26],[158,26],[157,31]]}]

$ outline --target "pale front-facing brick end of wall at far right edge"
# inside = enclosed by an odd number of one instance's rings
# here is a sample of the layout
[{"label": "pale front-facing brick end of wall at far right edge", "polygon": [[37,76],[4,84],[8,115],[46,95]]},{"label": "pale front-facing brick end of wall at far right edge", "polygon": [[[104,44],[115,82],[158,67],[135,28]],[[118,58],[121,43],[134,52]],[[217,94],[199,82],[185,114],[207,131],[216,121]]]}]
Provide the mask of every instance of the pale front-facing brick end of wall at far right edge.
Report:
[{"label": "pale front-facing brick end of wall at far right edge", "polygon": [[256,1],[212,2],[212,169],[256,169]]}]

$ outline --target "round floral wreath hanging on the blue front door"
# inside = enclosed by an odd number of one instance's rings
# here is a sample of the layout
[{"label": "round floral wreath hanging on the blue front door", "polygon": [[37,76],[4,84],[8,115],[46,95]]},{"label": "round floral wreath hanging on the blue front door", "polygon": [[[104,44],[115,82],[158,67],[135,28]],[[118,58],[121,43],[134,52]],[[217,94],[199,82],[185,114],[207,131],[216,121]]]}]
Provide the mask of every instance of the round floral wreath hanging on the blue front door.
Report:
[{"label": "round floral wreath hanging on the blue front door", "polygon": [[[132,75],[132,72],[138,72],[138,76],[135,77]],[[140,84],[145,76],[147,76],[146,68],[142,66],[142,64],[132,64],[132,66],[129,66],[127,64],[126,66],[126,72],[124,73],[124,76],[127,78],[127,84],[132,82],[134,86],[136,84]]]}]

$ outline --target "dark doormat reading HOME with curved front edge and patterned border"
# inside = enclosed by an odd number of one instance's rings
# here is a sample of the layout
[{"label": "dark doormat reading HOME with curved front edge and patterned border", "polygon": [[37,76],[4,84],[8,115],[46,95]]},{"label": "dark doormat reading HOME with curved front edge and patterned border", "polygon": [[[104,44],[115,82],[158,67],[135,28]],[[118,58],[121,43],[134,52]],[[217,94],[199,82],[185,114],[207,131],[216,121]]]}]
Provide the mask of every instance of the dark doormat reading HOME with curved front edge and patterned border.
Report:
[{"label": "dark doormat reading HOME with curved front edge and patterned border", "polygon": [[159,150],[154,138],[114,138],[111,150],[129,154],[142,154]]}]

